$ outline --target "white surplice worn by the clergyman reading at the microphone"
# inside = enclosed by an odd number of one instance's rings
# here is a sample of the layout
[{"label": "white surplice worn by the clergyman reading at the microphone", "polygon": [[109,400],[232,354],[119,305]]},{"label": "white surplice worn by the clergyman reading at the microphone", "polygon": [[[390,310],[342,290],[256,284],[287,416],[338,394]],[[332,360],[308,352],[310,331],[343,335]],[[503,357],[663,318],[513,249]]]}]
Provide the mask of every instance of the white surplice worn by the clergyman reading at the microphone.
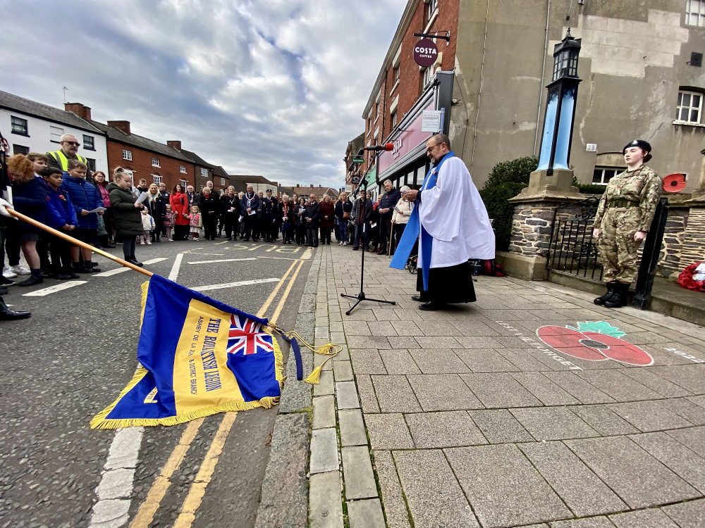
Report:
[{"label": "white surplice worn by the clergyman reading at the microphone", "polygon": [[[443,162],[436,187],[422,189],[419,219],[433,237],[431,268],[494,258],[494,231],[487,210],[460,158]],[[419,244],[419,265],[421,251]]]}]

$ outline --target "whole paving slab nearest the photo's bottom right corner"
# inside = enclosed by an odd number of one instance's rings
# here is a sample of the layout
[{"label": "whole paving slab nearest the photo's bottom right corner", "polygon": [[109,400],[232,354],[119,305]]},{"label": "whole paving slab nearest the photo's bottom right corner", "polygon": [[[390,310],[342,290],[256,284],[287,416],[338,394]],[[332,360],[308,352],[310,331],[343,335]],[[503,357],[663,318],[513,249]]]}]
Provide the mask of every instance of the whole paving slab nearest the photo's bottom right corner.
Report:
[{"label": "whole paving slab nearest the photo's bottom right corner", "polygon": [[565,444],[630,508],[699,496],[692,486],[624,436],[566,440]]}]

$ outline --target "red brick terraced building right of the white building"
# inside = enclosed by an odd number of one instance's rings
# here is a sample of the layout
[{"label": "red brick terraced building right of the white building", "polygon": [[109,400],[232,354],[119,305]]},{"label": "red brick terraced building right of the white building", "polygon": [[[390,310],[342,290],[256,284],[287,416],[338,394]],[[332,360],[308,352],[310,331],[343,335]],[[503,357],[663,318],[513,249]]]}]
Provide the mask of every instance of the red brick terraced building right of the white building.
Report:
[{"label": "red brick terraced building right of the white building", "polygon": [[138,136],[130,131],[129,121],[108,121],[106,124],[91,120],[90,108],[81,103],[67,103],[70,111],[90,122],[106,134],[109,180],[117,167],[133,176],[133,184],[145,179],[147,184],[165,183],[171,192],[178,183],[183,186],[195,180],[194,162],[178,150],[153,139]]}]

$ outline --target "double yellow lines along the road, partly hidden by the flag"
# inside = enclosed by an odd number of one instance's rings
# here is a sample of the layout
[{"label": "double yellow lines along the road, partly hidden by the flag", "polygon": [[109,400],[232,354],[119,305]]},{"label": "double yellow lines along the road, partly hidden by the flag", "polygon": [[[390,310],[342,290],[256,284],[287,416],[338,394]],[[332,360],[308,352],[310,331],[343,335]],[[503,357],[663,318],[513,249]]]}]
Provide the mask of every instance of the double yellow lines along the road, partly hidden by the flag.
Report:
[{"label": "double yellow lines along the road, partly hidden by the flag", "polygon": [[[266,301],[264,301],[262,308],[259,308],[259,312],[257,312],[258,318],[264,317],[266,310],[268,310],[271,303],[274,302],[279,290],[286,282],[287,277],[291,275],[291,279],[287,284],[287,287],[284,290],[276,309],[274,310],[274,314],[270,319],[271,322],[276,322],[276,318],[278,318],[281,313],[284,303],[286,302],[286,298],[288,298],[288,295],[290,294],[303,263],[303,260],[296,260],[291,263],[289,269],[286,270],[284,276],[281,277],[281,280],[276,284],[274,290],[272,290],[269,297]],[[235,417],[237,417],[237,415],[237,412],[231,411],[225,413],[223,416],[223,421],[221,422],[221,425],[218,428],[213,441],[211,442],[211,446],[208,449],[208,453],[206,453],[206,457],[203,459],[203,463],[201,464],[200,470],[191,485],[188,496],[186,496],[183,501],[181,513],[174,523],[174,528],[190,528],[193,524],[196,518],[196,512],[198,508],[200,508],[201,502],[203,501],[203,497],[206,493],[206,487],[211,482],[216,464],[218,463],[218,459],[223,451],[223,446],[225,446],[225,442],[228,439],[228,434],[230,434],[230,431],[233,428]],[[178,444],[171,452],[168,460],[166,460],[166,464],[164,464],[159,477],[157,477],[154,484],[152,484],[152,488],[149,489],[145,502],[142,503],[142,506],[140,507],[140,510],[137,511],[137,515],[135,515],[133,522],[130,523],[130,528],[147,528],[149,524],[152,524],[154,515],[157,513],[157,510],[159,510],[161,501],[164,500],[166,491],[171,485],[171,477],[174,472],[178,471],[178,468],[183,462],[192,441],[196,438],[196,434],[198,433],[198,429],[201,427],[203,420],[203,418],[197,418],[196,420],[189,422],[183,434],[181,434]]]}]

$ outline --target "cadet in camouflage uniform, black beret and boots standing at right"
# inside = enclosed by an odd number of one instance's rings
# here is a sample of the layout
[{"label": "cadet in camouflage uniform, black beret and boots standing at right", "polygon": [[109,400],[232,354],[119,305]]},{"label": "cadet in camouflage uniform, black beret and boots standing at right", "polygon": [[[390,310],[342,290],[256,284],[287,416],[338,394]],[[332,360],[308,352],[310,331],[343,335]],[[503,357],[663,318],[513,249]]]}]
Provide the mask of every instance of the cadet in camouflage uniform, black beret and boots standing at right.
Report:
[{"label": "cadet in camouflage uniform, black beret and boots standing at right", "polygon": [[651,145],[635,139],[622,150],[627,170],[610,180],[602,195],[593,237],[597,239],[607,293],[595,304],[617,308],[627,303],[627,290],[637,277],[637,251],[654,220],[661,197],[661,177],[644,165]]}]

